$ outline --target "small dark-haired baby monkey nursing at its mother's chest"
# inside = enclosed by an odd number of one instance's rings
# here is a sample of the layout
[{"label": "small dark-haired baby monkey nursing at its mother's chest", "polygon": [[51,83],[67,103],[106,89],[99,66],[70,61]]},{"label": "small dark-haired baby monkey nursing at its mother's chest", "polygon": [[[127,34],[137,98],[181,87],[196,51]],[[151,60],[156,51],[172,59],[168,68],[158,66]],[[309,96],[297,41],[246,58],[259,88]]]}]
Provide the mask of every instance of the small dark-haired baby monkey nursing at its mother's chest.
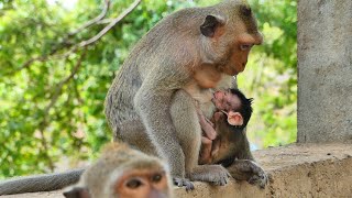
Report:
[{"label": "small dark-haired baby monkey nursing at its mother's chest", "polygon": [[248,99],[239,89],[216,91],[211,101],[216,112],[210,120],[198,111],[204,131],[199,164],[217,164],[233,157],[242,147],[244,128],[253,111],[253,99]]}]

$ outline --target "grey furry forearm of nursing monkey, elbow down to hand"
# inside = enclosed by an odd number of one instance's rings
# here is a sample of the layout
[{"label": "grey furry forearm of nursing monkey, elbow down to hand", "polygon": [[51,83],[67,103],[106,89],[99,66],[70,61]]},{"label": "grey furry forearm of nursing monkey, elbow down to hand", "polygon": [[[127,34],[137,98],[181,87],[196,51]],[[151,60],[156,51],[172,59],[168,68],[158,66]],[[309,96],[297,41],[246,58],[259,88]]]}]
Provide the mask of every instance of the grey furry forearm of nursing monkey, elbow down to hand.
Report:
[{"label": "grey furry forearm of nursing monkey, elbow down to hand", "polygon": [[185,178],[185,155],[170,117],[173,92],[154,90],[150,84],[143,84],[145,86],[142,85],[134,98],[135,108],[146,128],[147,139],[144,141],[151,141],[157,155],[166,160],[174,182],[190,189],[193,184]]}]

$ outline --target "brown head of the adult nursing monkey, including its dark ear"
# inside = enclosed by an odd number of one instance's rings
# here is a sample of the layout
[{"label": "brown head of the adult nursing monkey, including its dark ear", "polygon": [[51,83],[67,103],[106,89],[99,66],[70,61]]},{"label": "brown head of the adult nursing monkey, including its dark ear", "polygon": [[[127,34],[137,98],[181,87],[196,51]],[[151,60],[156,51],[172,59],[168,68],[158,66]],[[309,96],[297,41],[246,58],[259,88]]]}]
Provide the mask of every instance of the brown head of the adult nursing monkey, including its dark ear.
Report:
[{"label": "brown head of the adult nursing monkey, including its dark ear", "polygon": [[215,48],[219,70],[231,76],[244,70],[252,46],[263,42],[251,8],[239,1],[232,3],[223,8],[227,13],[208,15],[201,26]]}]

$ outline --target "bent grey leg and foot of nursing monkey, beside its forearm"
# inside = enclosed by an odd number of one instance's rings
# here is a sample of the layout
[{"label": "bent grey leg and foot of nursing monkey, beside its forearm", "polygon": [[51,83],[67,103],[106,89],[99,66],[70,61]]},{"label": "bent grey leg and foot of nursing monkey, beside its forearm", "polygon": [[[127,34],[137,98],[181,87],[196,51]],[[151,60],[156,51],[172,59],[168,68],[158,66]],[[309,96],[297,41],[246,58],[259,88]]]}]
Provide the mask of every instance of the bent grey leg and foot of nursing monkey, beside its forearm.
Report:
[{"label": "bent grey leg and foot of nursing monkey, beside its forearm", "polygon": [[170,108],[177,138],[185,154],[186,175],[191,180],[224,185],[229,173],[221,165],[198,165],[201,128],[194,99],[184,90],[174,95]]}]

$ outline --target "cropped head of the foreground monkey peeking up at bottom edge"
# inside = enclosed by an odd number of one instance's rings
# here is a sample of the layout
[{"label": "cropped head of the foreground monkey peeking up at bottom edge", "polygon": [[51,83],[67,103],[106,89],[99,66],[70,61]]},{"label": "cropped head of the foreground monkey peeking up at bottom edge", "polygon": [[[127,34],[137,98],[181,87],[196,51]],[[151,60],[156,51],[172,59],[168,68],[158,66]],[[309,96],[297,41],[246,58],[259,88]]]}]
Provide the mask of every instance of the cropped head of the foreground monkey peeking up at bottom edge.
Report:
[{"label": "cropped head of the foreground monkey peeking up at bottom edge", "polygon": [[64,191],[66,198],[169,198],[168,167],[160,158],[123,143],[106,146],[102,156]]}]

